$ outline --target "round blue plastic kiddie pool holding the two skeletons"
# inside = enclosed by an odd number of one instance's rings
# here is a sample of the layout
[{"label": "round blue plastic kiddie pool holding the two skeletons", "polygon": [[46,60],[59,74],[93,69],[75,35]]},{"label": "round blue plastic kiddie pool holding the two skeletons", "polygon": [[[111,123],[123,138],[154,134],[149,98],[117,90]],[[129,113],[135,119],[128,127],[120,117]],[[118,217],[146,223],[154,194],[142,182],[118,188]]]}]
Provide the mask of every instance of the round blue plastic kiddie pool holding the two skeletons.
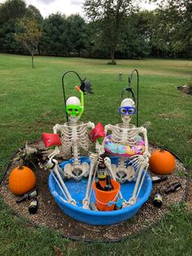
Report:
[{"label": "round blue plastic kiddie pool holding the two skeletons", "polygon": [[[80,158],[81,162],[86,161],[89,163],[89,157]],[[111,157],[111,163],[116,164],[118,162],[118,158],[119,157]],[[72,163],[72,159],[70,159],[69,161],[64,161],[59,166],[63,169],[63,166],[65,166],[67,163]],[[64,198],[58,184],[55,182],[54,177],[52,176],[52,174],[50,174],[50,192],[55,197],[55,201],[59,205],[59,208],[71,218],[75,218],[78,221],[92,225],[111,225],[123,222],[124,220],[131,218],[147,201],[152,190],[151,177],[148,173],[146,173],[146,177],[144,179],[144,182],[142,183],[142,188],[139,192],[139,195],[137,197],[137,203],[135,205],[131,205],[120,210],[97,211],[82,209],[82,201],[85,198],[88,179],[81,179],[81,181],[79,182],[73,179],[65,179],[64,182],[72,198],[76,200],[76,206],[65,202],[66,198]],[[126,201],[129,201],[129,198],[132,196],[134,185],[135,182],[120,184],[120,192],[122,193],[122,196]],[[90,202],[92,201],[96,201],[94,192],[92,192],[90,197]]]}]

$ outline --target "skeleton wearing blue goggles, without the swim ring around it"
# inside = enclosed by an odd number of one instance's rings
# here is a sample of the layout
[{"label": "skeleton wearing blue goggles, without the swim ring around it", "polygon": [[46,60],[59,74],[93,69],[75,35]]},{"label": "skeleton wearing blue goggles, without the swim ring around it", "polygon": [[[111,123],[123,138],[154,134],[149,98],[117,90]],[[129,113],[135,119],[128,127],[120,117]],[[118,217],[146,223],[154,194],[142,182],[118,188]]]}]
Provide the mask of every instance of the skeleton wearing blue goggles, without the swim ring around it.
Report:
[{"label": "skeleton wearing blue goggles, without the swim ring around it", "polygon": [[[137,141],[139,135],[142,134],[145,150],[140,154],[135,154],[131,157],[121,157],[118,166],[111,165],[111,169],[114,172],[116,179],[120,183],[124,183],[125,181],[136,181],[135,188],[133,190],[133,196],[129,199],[129,204],[133,205],[137,201],[137,196],[142,188],[142,183],[145,178],[146,170],[148,168],[148,161],[150,157],[150,153],[148,151],[148,140],[146,136],[146,128],[143,126],[136,127],[131,125],[129,122],[131,121],[132,115],[135,113],[135,104],[133,99],[124,99],[121,102],[119,112],[121,114],[121,118],[123,123],[117,124],[113,126],[111,124],[105,126],[105,133],[107,134],[108,130],[111,130],[111,141],[112,143],[122,144],[125,147],[134,147],[137,146]],[[142,175],[142,170],[144,174]]]}]

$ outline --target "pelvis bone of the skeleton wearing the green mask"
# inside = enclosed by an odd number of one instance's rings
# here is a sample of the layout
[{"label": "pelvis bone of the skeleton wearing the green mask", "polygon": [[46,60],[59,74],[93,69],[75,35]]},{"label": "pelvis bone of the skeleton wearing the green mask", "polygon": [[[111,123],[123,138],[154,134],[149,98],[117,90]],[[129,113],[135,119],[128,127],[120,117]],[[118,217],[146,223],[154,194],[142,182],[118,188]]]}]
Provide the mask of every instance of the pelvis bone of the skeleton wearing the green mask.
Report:
[{"label": "pelvis bone of the skeleton wearing the green mask", "polygon": [[63,168],[63,175],[68,179],[80,180],[89,174],[89,164],[84,161],[81,164],[66,164]]}]

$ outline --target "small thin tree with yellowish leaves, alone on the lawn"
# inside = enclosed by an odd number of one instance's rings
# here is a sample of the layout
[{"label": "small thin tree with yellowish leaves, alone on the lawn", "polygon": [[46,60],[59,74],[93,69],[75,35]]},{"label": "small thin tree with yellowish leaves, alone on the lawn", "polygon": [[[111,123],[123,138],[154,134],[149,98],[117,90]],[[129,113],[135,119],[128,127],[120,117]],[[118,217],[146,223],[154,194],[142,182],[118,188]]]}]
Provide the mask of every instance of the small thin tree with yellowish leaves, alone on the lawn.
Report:
[{"label": "small thin tree with yellowish leaves, alone on the lawn", "polygon": [[37,20],[24,18],[18,23],[18,32],[15,33],[15,41],[20,42],[32,55],[32,67],[34,68],[33,58],[37,53],[37,46],[41,38],[41,29]]}]

